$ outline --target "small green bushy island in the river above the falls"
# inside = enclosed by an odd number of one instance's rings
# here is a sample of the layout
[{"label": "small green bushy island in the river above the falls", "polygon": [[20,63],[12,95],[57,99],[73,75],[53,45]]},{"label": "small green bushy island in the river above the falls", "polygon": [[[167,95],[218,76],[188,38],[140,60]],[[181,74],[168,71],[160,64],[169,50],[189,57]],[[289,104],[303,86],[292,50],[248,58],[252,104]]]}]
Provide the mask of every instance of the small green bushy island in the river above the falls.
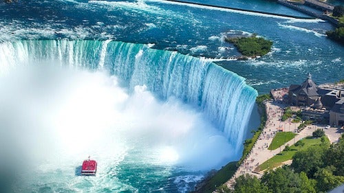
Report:
[{"label": "small green bushy island in the river above the falls", "polygon": [[264,56],[271,51],[272,47],[272,41],[258,38],[255,34],[248,37],[227,37],[225,41],[233,43],[239,52],[244,55],[244,58]]}]

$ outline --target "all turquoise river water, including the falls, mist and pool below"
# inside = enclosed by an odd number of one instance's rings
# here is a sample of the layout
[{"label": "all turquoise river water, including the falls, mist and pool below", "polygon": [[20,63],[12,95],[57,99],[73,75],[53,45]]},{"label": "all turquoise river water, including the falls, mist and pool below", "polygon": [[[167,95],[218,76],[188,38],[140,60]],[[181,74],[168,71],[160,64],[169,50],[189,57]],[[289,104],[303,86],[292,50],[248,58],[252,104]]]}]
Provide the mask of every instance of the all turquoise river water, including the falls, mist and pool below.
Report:
[{"label": "all turquoise river water, including the falls, mist and pool below", "polygon": [[[270,1],[198,2],[304,16]],[[343,46],[319,19],[168,1],[1,1],[0,18],[0,131],[17,141],[0,151],[36,163],[14,180],[19,192],[188,192],[240,157],[255,90],[308,72],[344,78]],[[242,33],[270,39],[272,52],[228,60],[239,53],[224,36]],[[79,177],[88,155],[102,167]]]}]

